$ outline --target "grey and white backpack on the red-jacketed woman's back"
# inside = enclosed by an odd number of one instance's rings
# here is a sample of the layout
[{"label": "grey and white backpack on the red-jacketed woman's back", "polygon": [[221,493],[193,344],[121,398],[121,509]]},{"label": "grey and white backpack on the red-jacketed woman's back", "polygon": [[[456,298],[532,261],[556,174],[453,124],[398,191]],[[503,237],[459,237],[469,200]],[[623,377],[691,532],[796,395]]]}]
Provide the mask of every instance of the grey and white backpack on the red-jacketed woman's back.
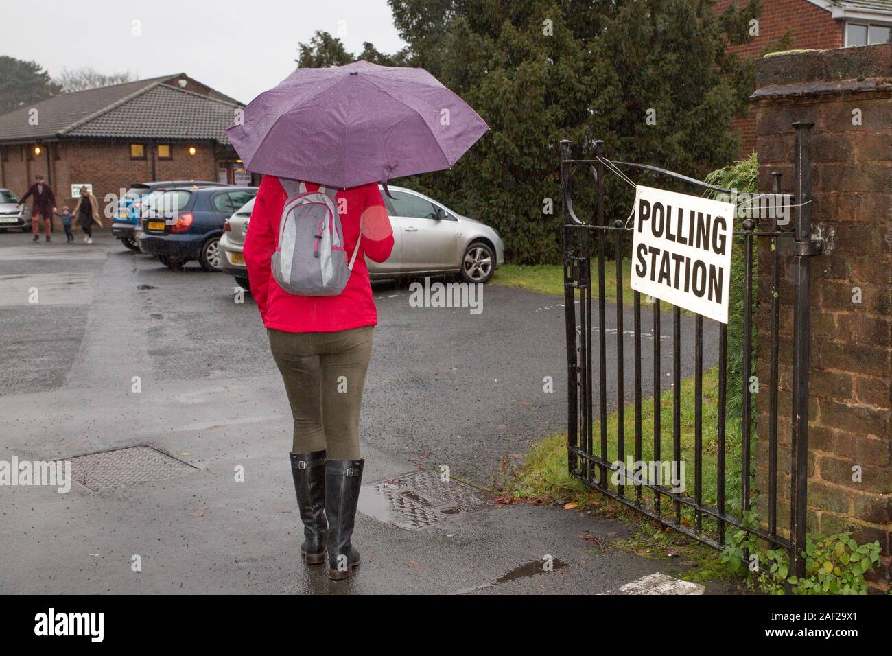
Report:
[{"label": "grey and white backpack on the red-jacketed woman's back", "polygon": [[298,180],[279,178],[288,199],[279,220],[279,238],[272,257],[273,278],[298,296],[336,296],[343,292],[359,253],[360,231],[350,261],[343,246],[337,212],[337,189],[307,191]]}]

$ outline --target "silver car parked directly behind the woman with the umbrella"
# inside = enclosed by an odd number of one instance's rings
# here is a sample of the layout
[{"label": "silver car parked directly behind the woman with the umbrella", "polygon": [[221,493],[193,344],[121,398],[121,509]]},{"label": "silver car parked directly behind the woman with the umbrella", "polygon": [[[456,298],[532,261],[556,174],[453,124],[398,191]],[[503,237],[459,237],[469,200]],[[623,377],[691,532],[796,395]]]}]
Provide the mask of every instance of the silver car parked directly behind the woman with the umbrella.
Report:
[{"label": "silver car parked directly behind the woman with the umbrella", "polygon": [[[417,191],[388,187],[384,203],[393,227],[393,252],[384,262],[368,260],[372,278],[458,273],[466,282],[486,282],[505,263],[499,233],[480,221],[452,212]],[[242,247],[253,199],[230,217],[220,237],[220,267],[248,288]]]}]

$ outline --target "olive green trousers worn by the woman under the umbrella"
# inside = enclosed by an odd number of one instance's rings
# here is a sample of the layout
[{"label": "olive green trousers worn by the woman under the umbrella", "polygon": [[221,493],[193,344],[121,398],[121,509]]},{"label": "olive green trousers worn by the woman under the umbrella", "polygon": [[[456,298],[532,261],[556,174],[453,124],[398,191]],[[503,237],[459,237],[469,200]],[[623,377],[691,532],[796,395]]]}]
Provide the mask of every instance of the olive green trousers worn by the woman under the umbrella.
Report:
[{"label": "olive green trousers worn by the woman under the umbrella", "polygon": [[294,418],[293,453],[359,460],[359,413],[374,326],[330,333],[267,329]]}]

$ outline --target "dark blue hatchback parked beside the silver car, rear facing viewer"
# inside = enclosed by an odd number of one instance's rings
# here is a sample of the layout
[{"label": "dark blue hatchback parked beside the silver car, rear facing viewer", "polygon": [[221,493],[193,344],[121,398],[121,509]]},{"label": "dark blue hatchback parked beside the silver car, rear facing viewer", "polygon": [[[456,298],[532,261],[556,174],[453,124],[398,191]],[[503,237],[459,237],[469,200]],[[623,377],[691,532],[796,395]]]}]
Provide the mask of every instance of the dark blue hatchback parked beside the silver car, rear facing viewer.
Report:
[{"label": "dark blue hatchback parked beside the silver car, rear facing viewer", "polygon": [[220,270],[223,223],[257,195],[257,187],[159,189],[143,203],[139,248],[171,269],[197,260]]}]

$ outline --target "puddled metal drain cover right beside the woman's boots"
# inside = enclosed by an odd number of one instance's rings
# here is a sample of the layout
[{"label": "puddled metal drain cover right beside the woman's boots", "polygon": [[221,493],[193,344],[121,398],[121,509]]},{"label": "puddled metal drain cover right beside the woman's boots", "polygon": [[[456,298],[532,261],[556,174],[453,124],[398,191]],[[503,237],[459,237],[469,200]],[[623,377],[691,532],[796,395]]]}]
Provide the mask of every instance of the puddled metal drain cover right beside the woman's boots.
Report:
[{"label": "puddled metal drain cover right beside the woman's boots", "polygon": [[433,471],[362,486],[359,494],[360,512],[407,531],[480,511],[489,504],[473,487],[457,480],[442,481]]}]

